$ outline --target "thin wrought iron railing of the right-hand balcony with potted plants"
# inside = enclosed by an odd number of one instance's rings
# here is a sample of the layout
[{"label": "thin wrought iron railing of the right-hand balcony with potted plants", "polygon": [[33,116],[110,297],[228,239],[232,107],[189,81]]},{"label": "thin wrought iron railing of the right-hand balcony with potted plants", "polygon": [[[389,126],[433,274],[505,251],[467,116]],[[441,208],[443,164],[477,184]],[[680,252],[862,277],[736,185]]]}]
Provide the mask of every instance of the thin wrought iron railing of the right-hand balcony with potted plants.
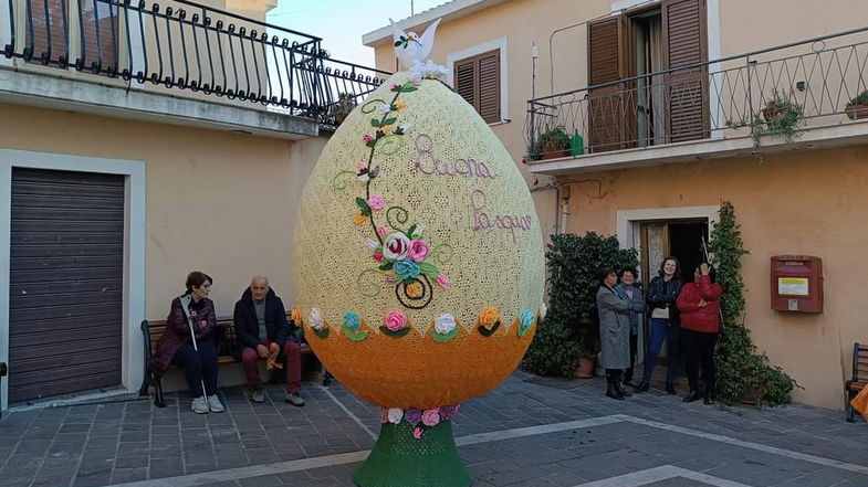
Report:
[{"label": "thin wrought iron railing of the right-hand balcony with potted plants", "polygon": [[866,89],[868,28],[861,28],[531,99],[527,156],[786,136],[783,125],[791,123],[817,127],[844,121],[844,115],[868,118]]}]

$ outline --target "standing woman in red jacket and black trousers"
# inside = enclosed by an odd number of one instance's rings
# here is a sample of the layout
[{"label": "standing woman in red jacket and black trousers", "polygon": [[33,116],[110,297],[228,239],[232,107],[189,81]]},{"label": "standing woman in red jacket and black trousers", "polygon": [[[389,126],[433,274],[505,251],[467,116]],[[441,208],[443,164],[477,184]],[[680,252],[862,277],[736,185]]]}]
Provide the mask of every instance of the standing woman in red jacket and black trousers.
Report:
[{"label": "standing woman in red jacket and black trousers", "polygon": [[[720,332],[720,296],[723,288],[714,283],[714,267],[702,263],[693,271],[693,282],[686,284],[678,295],[676,306],[681,311],[681,343],[687,360],[690,392],[684,402],[700,396],[705,404],[714,402],[714,345]],[[702,364],[702,388],[699,385],[699,367]],[[700,393],[700,390],[702,391]]]}]

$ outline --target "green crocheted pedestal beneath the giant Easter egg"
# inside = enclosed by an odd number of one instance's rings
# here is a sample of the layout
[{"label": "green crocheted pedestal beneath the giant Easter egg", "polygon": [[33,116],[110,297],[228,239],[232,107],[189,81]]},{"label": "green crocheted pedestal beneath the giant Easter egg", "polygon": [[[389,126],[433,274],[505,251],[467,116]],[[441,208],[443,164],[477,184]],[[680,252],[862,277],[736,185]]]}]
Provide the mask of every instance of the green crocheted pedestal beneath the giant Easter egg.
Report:
[{"label": "green crocheted pedestal beneath the giant Easter egg", "polygon": [[426,427],[412,437],[412,425],[384,423],[368,459],[353,480],[359,487],[467,487],[470,473],[458,454],[452,422]]}]

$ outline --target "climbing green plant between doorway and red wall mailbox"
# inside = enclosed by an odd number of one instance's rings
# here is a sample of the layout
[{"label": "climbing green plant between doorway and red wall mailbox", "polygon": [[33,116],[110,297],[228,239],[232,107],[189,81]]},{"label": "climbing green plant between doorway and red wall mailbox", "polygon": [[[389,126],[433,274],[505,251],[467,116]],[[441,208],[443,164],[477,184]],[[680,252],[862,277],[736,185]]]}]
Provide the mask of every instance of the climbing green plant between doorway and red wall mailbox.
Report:
[{"label": "climbing green plant between doorway and red wall mailbox", "polygon": [[796,382],[780,367],[770,366],[765,353],[756,352],[751,331],[743,322],[744,282],[739,271],[741,258],[747,251],[735,222],[735,209],[729,201],[723,201],[719,214],[709,242],[718,283],[723,286],[723,330],[715,353],[718,399],[725,403],[742,401],[759,406],[789,403]]}]

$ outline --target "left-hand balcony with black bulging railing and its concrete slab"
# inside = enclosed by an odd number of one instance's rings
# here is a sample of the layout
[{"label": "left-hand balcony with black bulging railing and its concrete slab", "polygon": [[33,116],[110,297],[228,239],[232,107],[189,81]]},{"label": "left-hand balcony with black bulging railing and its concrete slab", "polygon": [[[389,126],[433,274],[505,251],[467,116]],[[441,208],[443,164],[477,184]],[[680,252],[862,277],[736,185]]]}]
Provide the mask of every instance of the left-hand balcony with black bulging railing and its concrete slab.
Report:
[{"label": "left-hand balcony with black bulging railing and its concrete slab", "polygon": [[[186,0],[8,1],[0,9],[0,94],[12,103],[108,103],[224,126],[271,117],[272,129],[287,127],[283,117],[313,123],[315,135],[335,125],[338,103],[357,104],[389,75],[331,59],[320,38]],[[46,77],[55,82],[42,83]],[[57,91],[59,77],[66,88]]]}]

